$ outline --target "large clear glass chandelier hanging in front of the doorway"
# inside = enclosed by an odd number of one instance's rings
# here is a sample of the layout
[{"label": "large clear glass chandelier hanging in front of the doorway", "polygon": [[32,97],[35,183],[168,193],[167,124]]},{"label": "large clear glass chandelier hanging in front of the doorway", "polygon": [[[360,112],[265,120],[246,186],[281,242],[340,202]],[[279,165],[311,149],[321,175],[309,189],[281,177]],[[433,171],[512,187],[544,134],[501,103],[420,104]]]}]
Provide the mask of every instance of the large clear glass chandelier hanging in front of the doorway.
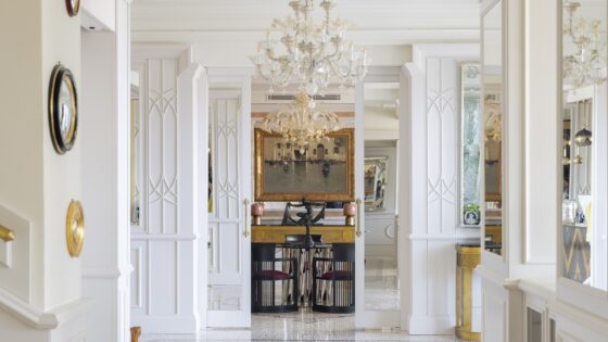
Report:
[{"label": "large clear glass chandelier hanging in front of the doorway", "polygon": [[319,23],[314,21],[314,2],[290,1],[292,15],[273,21],[266,39],[257,45],[257,54],[251,58],[259,76],[270,84],[270,91],[296,83],[300,91],[312,97],[334,80],[341,87],[353,87],[367,73],[365,49],[355,50],[353,42],[344,39],[346,22],[331,18],[333,1],[320,1]]}]

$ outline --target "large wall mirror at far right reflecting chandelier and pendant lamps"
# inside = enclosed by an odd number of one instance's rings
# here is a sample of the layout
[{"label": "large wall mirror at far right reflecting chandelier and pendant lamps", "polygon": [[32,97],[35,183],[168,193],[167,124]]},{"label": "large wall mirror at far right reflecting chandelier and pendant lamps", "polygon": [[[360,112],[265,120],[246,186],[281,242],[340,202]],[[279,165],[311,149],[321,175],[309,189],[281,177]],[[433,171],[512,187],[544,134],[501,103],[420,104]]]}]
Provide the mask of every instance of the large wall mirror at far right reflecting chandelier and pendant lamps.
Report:
[{"label": "large wall mirror at far right reflecting chandelier and pendant lamps", "polygon": [[562,2],[562,168],[559,271],[607,289],[608,143],[606,10],[608,1]]}]

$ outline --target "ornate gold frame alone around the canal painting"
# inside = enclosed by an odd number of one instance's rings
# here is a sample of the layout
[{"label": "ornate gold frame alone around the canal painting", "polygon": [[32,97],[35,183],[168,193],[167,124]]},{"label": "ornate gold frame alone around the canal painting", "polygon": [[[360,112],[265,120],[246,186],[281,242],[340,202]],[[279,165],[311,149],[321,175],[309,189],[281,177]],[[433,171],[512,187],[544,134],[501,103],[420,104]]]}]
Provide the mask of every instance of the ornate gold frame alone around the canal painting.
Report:
[{"label": "ornate gold frame alone around the canal painting", "polygon": [[355,198],[355,130],[353,128],[345,128],[337,130],[327,135],[329,138],[346,137],[347,152],[346,152],[346,192],[341,193],[306,193],[306,192],[264,192],[264,139],[266,138],[281,138],[280,135],[267,132],[263,129],[255,129],[255,201],[301,201],[306,198],[308,201],[324,201],[324,202],[350,202]]}]

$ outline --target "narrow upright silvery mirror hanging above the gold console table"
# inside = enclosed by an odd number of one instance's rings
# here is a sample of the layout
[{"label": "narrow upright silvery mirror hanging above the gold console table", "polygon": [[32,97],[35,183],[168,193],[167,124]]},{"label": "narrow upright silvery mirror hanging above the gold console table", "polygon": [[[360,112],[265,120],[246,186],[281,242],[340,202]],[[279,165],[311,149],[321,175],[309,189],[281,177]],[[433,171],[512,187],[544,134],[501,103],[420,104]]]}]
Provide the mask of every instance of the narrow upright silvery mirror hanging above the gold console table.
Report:
[{"label": "narrow upright silvery mirror hanging above the gold console table", "polygon": [[461,225],[479,227],[481,223],[481,65],[460,65],[461,151],[460,205]]}]

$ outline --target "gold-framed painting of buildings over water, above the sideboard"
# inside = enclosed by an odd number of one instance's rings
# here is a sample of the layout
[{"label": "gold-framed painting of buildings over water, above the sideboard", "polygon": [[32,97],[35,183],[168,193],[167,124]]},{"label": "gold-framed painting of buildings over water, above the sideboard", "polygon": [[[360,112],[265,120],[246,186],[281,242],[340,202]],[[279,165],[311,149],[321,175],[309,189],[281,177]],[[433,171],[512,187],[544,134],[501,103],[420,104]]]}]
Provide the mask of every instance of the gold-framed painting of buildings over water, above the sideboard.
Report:
[{"label": "gold-framed painting of buildings over water, above the sideboard", "polygon": [[354,129],[299,144],[255,129],[256,201],[353,201]]}]

